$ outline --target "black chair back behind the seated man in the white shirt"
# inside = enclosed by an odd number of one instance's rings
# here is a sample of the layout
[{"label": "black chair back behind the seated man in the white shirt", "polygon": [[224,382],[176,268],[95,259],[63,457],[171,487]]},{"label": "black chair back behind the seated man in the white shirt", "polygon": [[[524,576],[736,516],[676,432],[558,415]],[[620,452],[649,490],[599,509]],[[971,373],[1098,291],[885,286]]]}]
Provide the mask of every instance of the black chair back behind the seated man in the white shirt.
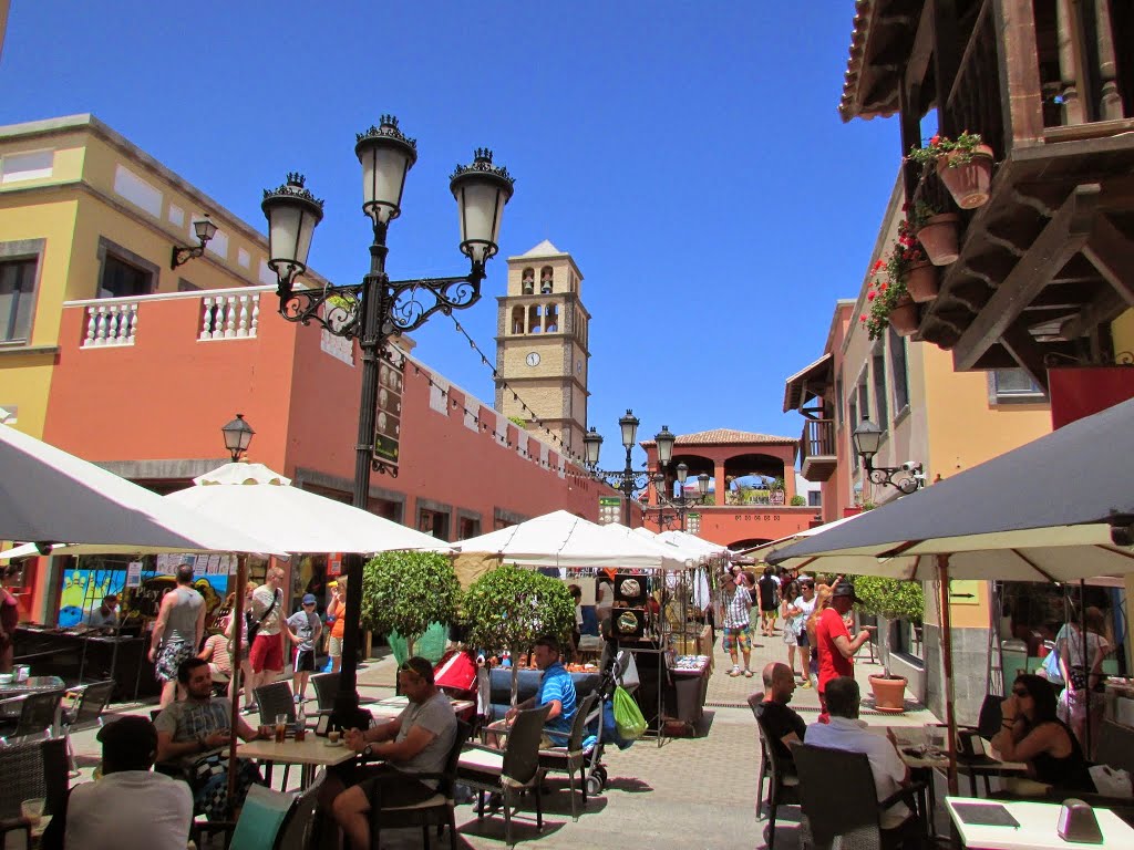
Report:
[{"label": "black chair back behind the seated man in the white shirt", "polygon": [[[880,801],[864,754],[801,743],[792,755],[799,775],[804,830],[816,850],[830,848],[836,839],[841,839],[841,847],[855,850],[894,850],[929,841],[917,805],[924,783],[905,785]],[[883,830],[882,814],[898,802],[905,802],[913,817],[899,827]],[[806,845],[807,835],[802,839]]]}]

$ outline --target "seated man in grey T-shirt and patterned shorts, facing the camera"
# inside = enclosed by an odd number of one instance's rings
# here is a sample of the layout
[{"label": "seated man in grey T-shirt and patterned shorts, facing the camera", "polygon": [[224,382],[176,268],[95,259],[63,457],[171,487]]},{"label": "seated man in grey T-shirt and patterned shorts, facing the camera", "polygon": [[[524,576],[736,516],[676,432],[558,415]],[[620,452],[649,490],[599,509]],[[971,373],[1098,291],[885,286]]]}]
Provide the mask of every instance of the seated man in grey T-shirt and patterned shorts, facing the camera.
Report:
[{"label": "seated man in grey T-shirt and patterned shorts, facing the camera", "polygon": [[[210,821],[223,818],[228,814],[228,757],[221,755],[221,748],[228,745],[231,736],[232,704],[212,695],[208,661],[183,661],[177,668],[177,681],[185,689],[186,698],[162,709],[153,722],[158,728],[158,760],[177,763],[189,773],[196,814]],[[236,723],[240,740],[269,737],[261,736],[239,716]],[[260,771],[248,759],[238,759],[237,765],[235,808],[238,809],[244,805],[248,787],[262,780]]]}]

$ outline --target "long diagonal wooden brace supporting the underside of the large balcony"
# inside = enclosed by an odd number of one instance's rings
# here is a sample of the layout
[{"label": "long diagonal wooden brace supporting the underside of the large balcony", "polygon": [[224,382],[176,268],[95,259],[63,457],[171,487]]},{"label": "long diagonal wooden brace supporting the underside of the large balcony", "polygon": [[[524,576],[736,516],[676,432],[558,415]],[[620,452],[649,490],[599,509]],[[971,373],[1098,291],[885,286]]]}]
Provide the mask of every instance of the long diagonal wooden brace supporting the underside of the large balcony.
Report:
[{"label": "long diagonal wooden brace supporting the underside of the large balcony", "polygon": [[1035,299],[1060,269],[1083,247],[1094,223],[1099,184],[1076,186],[1032,247],[1001,281],[953,349],[954,368],[968,372]]}]

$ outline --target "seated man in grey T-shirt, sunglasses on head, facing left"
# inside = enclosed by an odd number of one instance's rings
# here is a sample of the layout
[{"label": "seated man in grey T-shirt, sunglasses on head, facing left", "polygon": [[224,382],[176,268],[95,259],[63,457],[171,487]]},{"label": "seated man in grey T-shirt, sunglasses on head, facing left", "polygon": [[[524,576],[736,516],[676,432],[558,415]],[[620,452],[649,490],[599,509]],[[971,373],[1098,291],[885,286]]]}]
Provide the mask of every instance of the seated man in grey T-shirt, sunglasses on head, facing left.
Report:
[{"label": "seated man in grey T-shirt, sunglasses on head, facing left", "polygon": [[386,764],[332,767],[320,792],[320,805],[330,809],[355,850],[370,850],[372,799],[379,806],[412,806],[437,793],[435,780],[416,780],[413,774],[443,773],[457,736],[457,715],[433,682],[429,661],[408,658],[398,669],[398,686],[409,700],[401,714],[346,733],[355,753]]}]

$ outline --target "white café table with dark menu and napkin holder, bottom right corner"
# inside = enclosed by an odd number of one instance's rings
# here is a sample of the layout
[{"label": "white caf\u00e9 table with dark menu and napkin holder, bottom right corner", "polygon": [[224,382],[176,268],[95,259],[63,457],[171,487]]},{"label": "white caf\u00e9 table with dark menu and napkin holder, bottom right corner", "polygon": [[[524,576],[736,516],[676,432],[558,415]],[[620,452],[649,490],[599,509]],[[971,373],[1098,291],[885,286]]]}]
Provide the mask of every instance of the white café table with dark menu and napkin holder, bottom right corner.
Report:
[{"label": "white caf\u00e9 table with dark menu and napkin holder, bottom right corner", "polygon": [[[988,826],[983,824],[966,824],[957,814],[957,804],[980,806],[1002,806],[1008,810],[1019,826]],[[1059,804],[974,800],[966,797],[946,797],[945,805],[949,809],[960,842],[968,850],[1070,850],[1072,848],[1102,848],[1102,850],[1119,850],[1134,848],[1134,830],[1109,809],[1094,809],[1094,817],[1102,832],[1101,844],[1084,844],[1064,841],[1059,838]]]}]

